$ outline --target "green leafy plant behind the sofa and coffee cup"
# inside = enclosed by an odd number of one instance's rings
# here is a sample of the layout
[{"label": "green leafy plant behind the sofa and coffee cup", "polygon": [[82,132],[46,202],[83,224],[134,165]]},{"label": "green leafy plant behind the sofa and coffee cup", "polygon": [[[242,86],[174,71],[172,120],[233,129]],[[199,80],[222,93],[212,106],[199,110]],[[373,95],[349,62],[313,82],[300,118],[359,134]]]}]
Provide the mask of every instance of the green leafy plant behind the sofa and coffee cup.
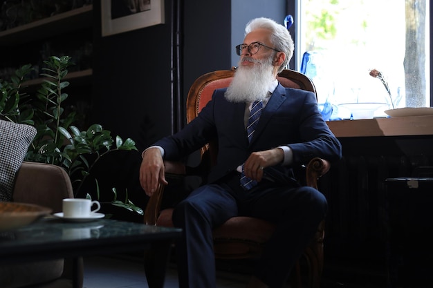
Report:
[{"label": "green leafy plant behind the sofa and coffee cup", "polygon": [[[64,77],[68,74],[68,66],[72,65],[71,57],[52,56],[44,64],[43,82],[35,95],[23,92],[23,84],[33,70],[30,64],[17,69],[10,81],[0,79],[0,118],[33,125],[37,129],[26,161],[61,166],[71,177],[75,195],[93,196],[99,200],[101,191],[96,178],[91,179],[94,182],[92,195],[80,191],[93,166],[110,153],[137,150],[135,142],[129,138],[123,141],[119,136],[113,139],[110,131],[99,124],[92,124],[84,131],[74,126],[80,115],[66,113],[64,109],[64,101],[68,98],[64,88],[69,86]],[[142,215],[142,209],[129,200],[127,191],[125,200],[118,199],[118,189],[120,187],[111,188],[109,193],[113,200],[110,204]]]}]

